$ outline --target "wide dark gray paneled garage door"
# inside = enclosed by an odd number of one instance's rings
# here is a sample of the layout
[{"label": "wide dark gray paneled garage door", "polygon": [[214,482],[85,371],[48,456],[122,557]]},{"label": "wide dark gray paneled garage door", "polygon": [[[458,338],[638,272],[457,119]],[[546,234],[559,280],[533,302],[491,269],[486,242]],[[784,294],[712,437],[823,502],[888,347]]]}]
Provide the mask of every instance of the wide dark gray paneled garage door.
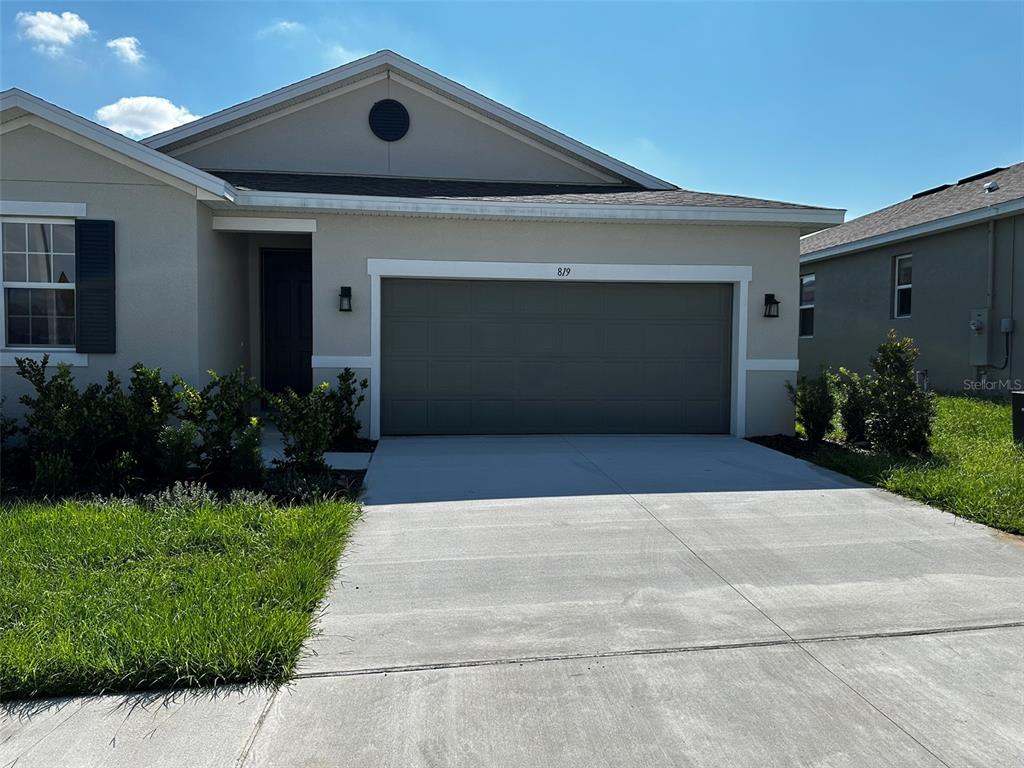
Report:
[{"label": "wide dark gray paneled garage door", "polygon": [[728,432],[728,285],[384,280],[384,434]]}]

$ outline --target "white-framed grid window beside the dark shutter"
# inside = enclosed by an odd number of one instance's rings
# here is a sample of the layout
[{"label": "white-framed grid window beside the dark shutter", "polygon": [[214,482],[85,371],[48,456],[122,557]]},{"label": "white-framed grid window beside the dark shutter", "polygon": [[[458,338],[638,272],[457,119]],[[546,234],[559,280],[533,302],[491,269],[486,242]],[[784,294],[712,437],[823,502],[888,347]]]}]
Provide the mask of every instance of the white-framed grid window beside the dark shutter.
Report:
[{"label": "white-framed grid window beside the dark shutter", "polygon": [[4,341],[75,345],[75,223],[3,222]]}]

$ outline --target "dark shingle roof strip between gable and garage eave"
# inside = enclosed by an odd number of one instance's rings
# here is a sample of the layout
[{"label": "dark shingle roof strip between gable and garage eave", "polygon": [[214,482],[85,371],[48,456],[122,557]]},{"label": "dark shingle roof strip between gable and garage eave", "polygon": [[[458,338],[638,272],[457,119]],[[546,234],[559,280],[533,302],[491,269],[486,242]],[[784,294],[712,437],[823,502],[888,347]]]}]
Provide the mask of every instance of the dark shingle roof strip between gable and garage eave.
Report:
[{"label": "dark shingle roof strip between gable and garage eave", "polygon": [[[316,195],[493,201],[497,203],[568,203],[581,205],[712,206],[731,208],[816,209],[759,198],[640,186],[550,184],[511,181],[330,176],[316,173],[209,171],[239,189]],[[822,209],[816,209],[822,210]]]}]

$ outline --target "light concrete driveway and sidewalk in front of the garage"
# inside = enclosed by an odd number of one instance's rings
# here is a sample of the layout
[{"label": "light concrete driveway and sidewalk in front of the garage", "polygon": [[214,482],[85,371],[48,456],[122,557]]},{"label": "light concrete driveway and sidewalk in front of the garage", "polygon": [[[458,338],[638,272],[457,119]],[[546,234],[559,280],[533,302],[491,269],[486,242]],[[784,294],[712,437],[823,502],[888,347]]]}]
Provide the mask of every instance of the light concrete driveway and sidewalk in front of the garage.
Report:
[{"label": "light concrete driveway and sidewalk in front of the garage", "polygon": [[17,766],[1024,766],[1024,542],[728,437],[384,440],[298,679]]}]

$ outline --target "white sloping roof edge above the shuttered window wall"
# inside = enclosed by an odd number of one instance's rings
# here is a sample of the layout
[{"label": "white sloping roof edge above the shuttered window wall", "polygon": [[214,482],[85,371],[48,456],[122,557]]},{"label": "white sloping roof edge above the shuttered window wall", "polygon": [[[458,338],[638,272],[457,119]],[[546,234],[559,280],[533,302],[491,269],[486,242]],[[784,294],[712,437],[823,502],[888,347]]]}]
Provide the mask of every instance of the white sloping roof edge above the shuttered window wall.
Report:
[{"label": "white sloping roof edge above the shuttered window wall", "polygon": [[233,199],[230,184],[205,171],[201,171],[187,163],[169,158],[161,152],[140,144],[138,141],[112,131],[110,128],[93,123],[91,120],[62,110],[39,96],[19,88],[9,88],[0,93],[0,114],[6,127],[15,120],[30,116],[42,118],[47,123],[62,128],[75,136],[88,139],[108,150],[141,163],[146,168],[172,176],[197,189],[201,189],[216,198]]}]

